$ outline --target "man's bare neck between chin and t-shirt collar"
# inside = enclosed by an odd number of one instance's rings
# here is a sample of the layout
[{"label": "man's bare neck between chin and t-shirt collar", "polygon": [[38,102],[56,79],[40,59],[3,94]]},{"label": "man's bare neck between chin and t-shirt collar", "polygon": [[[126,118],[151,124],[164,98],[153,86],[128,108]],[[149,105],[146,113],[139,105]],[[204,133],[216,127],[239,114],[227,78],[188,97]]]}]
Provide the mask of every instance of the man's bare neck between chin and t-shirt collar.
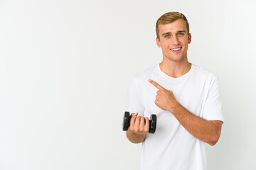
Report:
[{"label": "man's bare neck between chin and t-shirt collar", "polygon": [[186,74],[191,69],[191,63],[188,60],[183,62],[174,62],[163,60],[159,67],[162,72],[169,75],[169,77],[178,78]]}]

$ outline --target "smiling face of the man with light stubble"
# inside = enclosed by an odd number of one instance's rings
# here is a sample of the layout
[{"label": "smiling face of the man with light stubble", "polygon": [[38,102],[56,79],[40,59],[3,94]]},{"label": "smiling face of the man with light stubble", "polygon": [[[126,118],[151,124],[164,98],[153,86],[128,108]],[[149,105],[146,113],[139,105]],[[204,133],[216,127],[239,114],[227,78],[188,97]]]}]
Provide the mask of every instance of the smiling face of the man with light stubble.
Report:
[{"label": "smiling face of the man with light stubble", "polygon": [[165,59],[174,62],[186,60],[190,43],[191,34],[188,34],[186,22],[182,19],[159,25],[159,38],[156,38],[156,44],[161,47]]}]

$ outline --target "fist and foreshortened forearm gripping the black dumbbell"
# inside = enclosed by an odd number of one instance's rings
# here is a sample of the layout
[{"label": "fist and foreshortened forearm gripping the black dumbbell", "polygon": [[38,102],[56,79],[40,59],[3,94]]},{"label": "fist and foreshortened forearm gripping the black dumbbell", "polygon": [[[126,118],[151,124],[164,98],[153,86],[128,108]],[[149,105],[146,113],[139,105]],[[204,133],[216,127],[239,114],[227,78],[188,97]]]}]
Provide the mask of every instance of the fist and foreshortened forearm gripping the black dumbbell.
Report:
[{"label": "fist and foreshortened forearm gripping the black dumbbell", "polygon": [[132,113],[130,126],[127,130],[127,138],[132,143],[143,142],[146,134],[149,132],[149,118],[137,116],[138,113]]}]

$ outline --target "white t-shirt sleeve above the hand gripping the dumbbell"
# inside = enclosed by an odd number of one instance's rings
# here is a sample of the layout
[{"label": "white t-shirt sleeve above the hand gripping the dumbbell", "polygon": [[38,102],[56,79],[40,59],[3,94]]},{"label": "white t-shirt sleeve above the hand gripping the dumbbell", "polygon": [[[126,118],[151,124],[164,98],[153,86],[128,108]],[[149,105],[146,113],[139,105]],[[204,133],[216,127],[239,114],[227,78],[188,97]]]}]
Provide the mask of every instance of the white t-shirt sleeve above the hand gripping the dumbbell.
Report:
[{"label": "white t-shirt sleeve above the hand gripping the dumbbell", "polygon": [[144,105],[142,102],[142,91],[137,79],[133,78],[129,85],[129,112],[144,115]]}]

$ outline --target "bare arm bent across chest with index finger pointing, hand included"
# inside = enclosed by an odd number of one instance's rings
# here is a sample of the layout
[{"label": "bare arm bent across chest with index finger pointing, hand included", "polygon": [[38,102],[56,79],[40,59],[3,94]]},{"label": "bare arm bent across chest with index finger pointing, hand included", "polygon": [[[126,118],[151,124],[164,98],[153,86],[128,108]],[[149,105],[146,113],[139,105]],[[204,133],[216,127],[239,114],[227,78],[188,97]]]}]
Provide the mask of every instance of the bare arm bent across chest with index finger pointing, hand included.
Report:
[{"label": "bare arm bent across chest with index finger pointing, hand included", "polygon": [[149,82],[159,89],[155,100],[156,106],[173,113],[181,125],[199,140],[209,145],[215,145],[215,143],[218,142],[221,126],[223,124],[222,121],[205,120],[194,115],[176,101],[172,91],[164,89],[164,87],[151,79],[149,79]]}]

